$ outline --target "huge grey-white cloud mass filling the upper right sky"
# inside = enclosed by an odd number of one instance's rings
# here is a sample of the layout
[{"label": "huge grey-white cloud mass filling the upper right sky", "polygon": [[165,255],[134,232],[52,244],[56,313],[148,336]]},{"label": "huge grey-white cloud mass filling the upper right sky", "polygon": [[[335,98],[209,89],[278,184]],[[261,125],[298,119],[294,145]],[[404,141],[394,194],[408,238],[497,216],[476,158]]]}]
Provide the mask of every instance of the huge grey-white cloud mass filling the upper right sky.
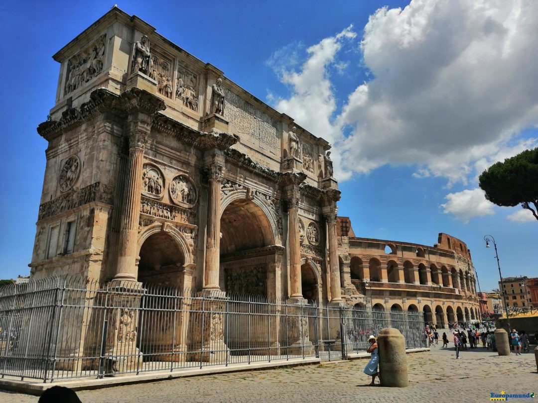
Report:
[{"label": "huge grey-white cloud mass filling the upper right sky", "polygon": [[356,38],[351,27],[309,47],[302,64],[290,48],[277,52],[292,55],[279,70],[292,93],[275,106],[334,143],[341,180],[405,164],[449,187],[475,182],[489,164],[538,143],[518,138],[538,125],[537,24],[538,2],[528,0],[381,8],[357,45],[372,79],[349,89],[342,110],[327,70],[345,65],[338,52]]}]

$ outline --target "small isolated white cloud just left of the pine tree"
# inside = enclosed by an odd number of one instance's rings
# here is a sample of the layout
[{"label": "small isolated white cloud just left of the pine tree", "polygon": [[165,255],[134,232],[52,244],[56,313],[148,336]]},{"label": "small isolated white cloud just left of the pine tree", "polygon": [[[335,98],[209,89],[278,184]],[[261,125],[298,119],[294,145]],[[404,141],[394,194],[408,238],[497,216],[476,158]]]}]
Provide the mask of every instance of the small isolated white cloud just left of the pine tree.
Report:
[{"label": "small isolated white cloud just left of the pine tree", "polygon": [[484,191],[479,188],[449,193],[447,203],[442,204],[443,213],[454,214],[458,220],[468,223],[473,217],[494,214],[493,203],[486,200]]}]

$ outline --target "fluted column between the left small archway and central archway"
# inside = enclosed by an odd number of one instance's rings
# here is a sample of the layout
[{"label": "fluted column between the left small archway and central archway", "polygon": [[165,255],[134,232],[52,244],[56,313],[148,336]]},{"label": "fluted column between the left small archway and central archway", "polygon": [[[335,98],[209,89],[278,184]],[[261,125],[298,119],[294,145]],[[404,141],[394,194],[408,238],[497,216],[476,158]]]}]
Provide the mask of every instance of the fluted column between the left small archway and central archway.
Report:
[{"label": "fluted column between the left small archway and central archway", "polygon": [[204,290],[220,290],[218,272],[221,257],[221,184],[222,167],[210,165],[209,176],[209,213],[207,220],[206,271],[204,272]]}]

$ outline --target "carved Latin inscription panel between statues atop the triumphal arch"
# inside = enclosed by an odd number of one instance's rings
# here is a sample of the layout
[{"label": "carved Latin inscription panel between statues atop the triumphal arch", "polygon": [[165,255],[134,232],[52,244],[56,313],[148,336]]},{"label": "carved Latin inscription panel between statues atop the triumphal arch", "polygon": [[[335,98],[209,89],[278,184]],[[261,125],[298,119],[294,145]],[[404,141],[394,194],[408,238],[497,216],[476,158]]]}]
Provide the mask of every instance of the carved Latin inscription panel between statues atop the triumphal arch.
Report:
[{"label": "carved Latin inscription panel between statues atop the triumphal arch", "polygon": [[230,121],[240,136],[247,136],[254,145],[280,153],[277,121],[266,113],[224,88],[226,110],[224,118]]}]

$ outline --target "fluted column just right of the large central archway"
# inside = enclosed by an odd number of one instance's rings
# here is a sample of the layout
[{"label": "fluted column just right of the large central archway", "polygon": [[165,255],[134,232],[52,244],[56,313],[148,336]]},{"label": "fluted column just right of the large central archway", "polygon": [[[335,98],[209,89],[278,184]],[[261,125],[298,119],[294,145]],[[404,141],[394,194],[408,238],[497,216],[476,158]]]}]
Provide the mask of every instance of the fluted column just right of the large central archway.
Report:
[{"label": "fluted column just right of the large central archway", "polygon": [[288,200],[289,292],[290,298],[302,298],[301,243],[299,240],[299,199]]}]

